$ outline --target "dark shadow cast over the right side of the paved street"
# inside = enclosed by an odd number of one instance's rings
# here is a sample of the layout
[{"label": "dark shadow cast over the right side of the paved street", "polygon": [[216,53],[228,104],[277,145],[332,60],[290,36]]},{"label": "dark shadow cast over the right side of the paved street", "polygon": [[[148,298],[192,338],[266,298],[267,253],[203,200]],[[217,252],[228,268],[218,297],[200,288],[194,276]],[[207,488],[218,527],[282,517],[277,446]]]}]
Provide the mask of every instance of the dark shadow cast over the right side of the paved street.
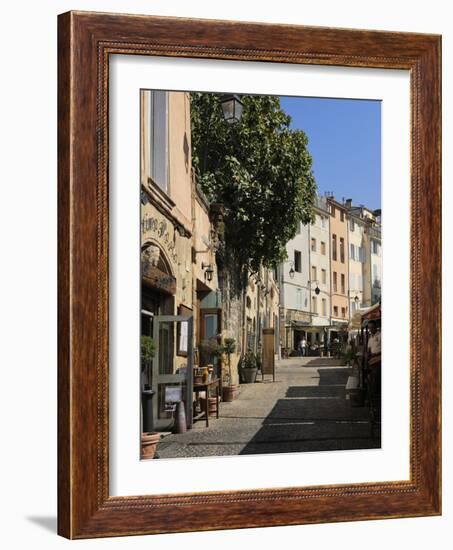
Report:
[{"label": "dark shadow cast over the right side of the paved street", "polygon": [[240,454],[380,448],[369,409],[346,400],[350,369],[320,369],[318,374],[318,386],[288,388]]}]

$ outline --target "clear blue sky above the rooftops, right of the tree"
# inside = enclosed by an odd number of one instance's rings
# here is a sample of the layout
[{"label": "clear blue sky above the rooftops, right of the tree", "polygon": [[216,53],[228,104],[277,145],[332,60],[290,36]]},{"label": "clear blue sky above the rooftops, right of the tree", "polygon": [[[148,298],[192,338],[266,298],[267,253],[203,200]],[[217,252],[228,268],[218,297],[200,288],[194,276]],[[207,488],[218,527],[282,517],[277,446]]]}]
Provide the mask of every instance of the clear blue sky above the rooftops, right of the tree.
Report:
[{"label": "clear blue sky above the rooftops, right of the tree", "polygon": [[381,102],[281,97],[292,128],[304,130],[318,192],[381,207]]}]

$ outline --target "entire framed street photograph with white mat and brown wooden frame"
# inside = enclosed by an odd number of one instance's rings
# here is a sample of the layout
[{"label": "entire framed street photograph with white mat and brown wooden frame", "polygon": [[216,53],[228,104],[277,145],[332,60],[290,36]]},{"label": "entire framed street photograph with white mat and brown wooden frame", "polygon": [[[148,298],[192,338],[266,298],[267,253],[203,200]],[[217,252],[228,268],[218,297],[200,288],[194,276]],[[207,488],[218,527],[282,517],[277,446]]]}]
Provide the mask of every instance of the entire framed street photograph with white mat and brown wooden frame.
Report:
[{"label": "entire framed street photograph with white mat and brown wooden frame", "polygon": [[441,39],[59,16],[58,530],[441,513]]}]

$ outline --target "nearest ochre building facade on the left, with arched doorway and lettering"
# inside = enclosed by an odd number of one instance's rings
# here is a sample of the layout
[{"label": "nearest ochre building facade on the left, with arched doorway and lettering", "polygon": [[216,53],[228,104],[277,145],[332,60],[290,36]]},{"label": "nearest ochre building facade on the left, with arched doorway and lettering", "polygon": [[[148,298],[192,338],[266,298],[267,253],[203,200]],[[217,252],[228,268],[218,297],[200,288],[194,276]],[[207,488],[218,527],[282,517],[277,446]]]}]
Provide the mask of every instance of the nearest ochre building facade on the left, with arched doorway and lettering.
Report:
[{"label": "nearest ochre building facade on the left, with arched doorway and lettering", "polygon": [[156,346],[145,383],[155,391],[156,427],[165,429],[172,388],[183,391],[202,337],[202,301],[217,294],[218,279],[209,206],[192,178],[189,94],[146,90],[140,103],[141,334]]}]

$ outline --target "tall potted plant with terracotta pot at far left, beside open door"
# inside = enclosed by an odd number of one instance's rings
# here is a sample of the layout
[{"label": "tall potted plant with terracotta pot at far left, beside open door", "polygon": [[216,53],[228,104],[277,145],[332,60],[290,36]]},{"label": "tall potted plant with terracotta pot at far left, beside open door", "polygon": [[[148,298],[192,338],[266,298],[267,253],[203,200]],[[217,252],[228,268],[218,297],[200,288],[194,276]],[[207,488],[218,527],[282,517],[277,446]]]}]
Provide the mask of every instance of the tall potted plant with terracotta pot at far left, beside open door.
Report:
[{"label": "tall potted plant with terracotta pot at far left, beside open door", "polygon": [[154,431],[153,395],[151,388],[151,368],[155,353],[154,340],[151,336],[143,335],[140,338],[140,363],[142,384],[142,414],[143,427],[141,438],[142,458],[154,458],[160,433]]}]

